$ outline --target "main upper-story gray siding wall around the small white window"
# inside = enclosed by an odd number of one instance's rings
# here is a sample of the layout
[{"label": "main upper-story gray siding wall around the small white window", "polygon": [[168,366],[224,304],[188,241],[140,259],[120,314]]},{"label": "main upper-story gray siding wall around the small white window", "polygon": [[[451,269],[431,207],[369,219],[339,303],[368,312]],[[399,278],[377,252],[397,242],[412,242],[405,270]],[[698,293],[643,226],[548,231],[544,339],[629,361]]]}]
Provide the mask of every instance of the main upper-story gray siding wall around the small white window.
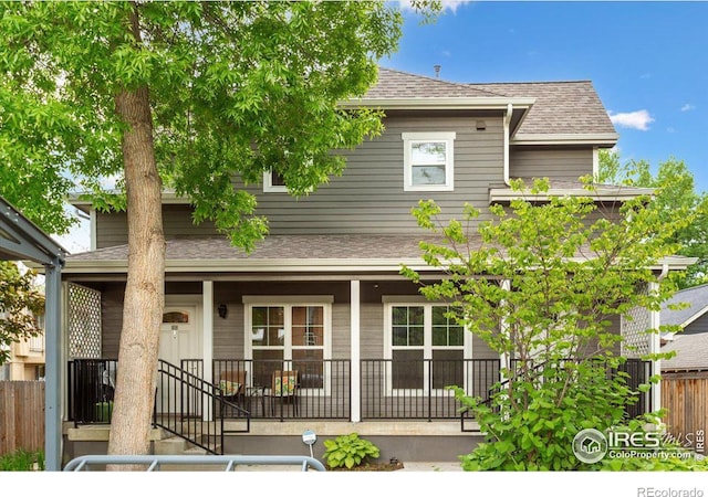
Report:
[{"label": "main upper-story gray siding wall around the small white window", "polygon": [[[418,234],[410,209],[419,199],[435,199],[442,219],[459,218],[465,202],[485,211],[489,184],[503,181],[503,127],[500,117],[486,117],[486,129],[476,129],[475,117],[391,117],[386,130],[344,152],[346,168],[311,195],[294,199],[288,193],[257,195],[259,215],[269,220],[271,234]],[[404,142],[402,133],[455,131],[455,190],[450,192],[404,191]],[[165,236],[208,236],[211,223],[195,225],[188,205],[165,205]],[[485,215],[482,214],[482,219]],[[125,213],[97,214],[97,247],[127,242]]]}]

